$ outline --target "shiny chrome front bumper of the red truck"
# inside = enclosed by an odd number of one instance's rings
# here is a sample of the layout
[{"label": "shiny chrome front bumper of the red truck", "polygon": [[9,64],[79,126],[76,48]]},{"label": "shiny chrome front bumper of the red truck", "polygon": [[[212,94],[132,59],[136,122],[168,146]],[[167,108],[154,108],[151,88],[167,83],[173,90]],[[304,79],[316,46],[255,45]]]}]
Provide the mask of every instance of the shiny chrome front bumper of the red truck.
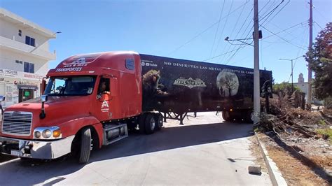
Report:
[{"label": "shiny chrome front bumper of the red truck", "polygon": [[71,152],[71,142],[75,136],[57,141],[29,141],[0,136],[0,152],[17,157],[55,159]]}]

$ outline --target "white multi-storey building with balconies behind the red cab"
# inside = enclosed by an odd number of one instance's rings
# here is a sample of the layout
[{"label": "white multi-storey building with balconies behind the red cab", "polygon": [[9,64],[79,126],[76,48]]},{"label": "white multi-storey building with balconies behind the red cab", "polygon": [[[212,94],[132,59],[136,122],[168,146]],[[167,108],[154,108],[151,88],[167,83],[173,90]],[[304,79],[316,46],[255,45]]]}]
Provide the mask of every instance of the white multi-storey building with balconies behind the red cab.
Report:
[{"label": "white multi-storey building with balconies behind the red cab", "polygon": [[55,60],[48,41],[55,33],[0,8],[0,95],[2,106],[40,96],[48,61]]}]

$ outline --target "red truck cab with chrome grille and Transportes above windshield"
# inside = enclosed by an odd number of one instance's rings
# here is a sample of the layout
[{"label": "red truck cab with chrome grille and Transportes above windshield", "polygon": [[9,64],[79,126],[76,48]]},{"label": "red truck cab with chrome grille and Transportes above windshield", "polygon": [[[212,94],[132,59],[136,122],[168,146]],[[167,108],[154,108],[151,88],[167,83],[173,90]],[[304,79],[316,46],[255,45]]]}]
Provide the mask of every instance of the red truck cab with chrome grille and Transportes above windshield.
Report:
[{"label": "red truck cab with chrome grille and Transportes above windshield", "polygon": [[141,117],[136,52],[69,57],[48,71],[41,87],[43,96],[4,110],[2,153],[36,159],[73,153],[86,163],[92,148],[125,138],[127,124]]}]

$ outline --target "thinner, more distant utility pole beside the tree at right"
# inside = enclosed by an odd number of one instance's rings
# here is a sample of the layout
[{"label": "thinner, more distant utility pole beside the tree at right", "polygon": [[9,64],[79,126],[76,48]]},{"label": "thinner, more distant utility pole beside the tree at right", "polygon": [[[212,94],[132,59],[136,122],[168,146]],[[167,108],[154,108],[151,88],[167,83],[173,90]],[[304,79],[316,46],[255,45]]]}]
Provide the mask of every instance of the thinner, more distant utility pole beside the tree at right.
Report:
[{"label": "thinner, more distant utility pole beside the tree at right", "polygon": [[310,64],[312,63],[312,0],[310,0],[310,17],[309,17],[309,59],[307,62],[307,106],[311,108],[312,101],[312,70]]}]

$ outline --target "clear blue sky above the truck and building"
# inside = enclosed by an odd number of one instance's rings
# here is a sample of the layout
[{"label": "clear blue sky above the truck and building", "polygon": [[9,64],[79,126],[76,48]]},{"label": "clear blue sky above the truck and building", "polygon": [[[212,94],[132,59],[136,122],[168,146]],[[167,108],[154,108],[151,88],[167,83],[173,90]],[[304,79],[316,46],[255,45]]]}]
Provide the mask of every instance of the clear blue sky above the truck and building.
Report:
[{"label": "clear blue sky above the truck and building", "polygon": [[[258,0],[263,26],[260,68],[271,70],[276,82],[288,81],[291,74],[290,62],[279,59],[294,59],[307,50],[307,1],[284,0],[268,16],[282,0]],[[253,68],[253,47],[224,41],[226,36],[251,37],[253,2],[0,0],[0,6],[54,32],[62,31],[50,40],[50,50],[57,51],[50,68],[71,55],[112,50]],[[315,38],[320,27],[332,21],[332,1],[313,2]],[[294,82],[299,73],[307,80],[305,60],[296,59],[294,64]]]}]

